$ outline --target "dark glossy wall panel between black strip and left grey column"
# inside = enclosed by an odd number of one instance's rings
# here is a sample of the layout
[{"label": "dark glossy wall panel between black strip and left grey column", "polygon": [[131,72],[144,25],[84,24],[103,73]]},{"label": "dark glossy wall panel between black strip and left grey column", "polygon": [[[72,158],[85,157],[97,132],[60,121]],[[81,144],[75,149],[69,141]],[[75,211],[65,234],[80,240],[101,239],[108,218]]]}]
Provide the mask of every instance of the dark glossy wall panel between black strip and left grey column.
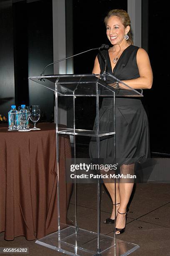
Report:
[{"label": "dark glossy wall panel between black strip and left grey column", "polygon": [[[53,62],[52,0],[29,3],[28,13],[28,76],[40,76],[44,67]],[[45,74],[53,74],[53,66]],[[30,105],[40,105],[49,120],[54,112],[53,92],[29,81],[29,99]]]}]

